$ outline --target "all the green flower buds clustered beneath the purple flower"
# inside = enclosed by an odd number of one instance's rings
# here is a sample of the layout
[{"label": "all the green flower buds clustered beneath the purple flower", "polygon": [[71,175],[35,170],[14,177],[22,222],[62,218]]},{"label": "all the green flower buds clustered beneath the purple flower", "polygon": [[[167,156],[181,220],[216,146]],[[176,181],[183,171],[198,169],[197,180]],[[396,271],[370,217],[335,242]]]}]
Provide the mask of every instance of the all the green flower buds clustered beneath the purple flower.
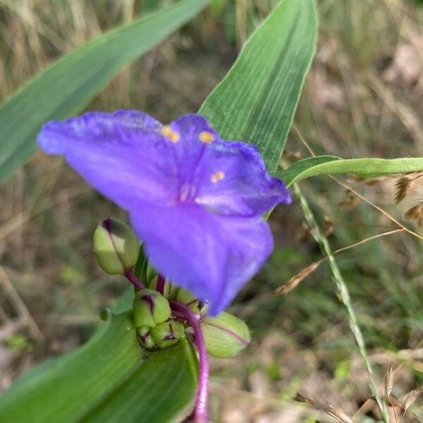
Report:
[{"label": "all the green flower buds clustered beneath the purple flower", "polygon": [[[135,266],[139,250],[140,243],[131,228],[117,219],[102,221],[94,233],[94,252],[107,274],[127,274]],[[145,282],[147,288],[137,290],[133,300],[133,318],[142,348],[168,348],[184,336],[183,319],[172,316],[171,300],[186,305],[195,314],[210,355],[234,357],[250,343],[250,331],[244,321],[227,312],[208,317],[207,303],[161,278],[151,266]]]}]

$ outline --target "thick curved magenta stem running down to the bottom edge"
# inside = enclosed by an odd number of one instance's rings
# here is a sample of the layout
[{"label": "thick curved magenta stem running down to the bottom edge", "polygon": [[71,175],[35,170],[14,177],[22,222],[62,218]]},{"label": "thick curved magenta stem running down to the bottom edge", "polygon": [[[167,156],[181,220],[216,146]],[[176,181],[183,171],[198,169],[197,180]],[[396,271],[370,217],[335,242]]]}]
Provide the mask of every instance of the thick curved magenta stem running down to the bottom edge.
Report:
[{"label": "thick curved magenta stem running down to the bottom edge", "polygon": [[182,314],[188,324],[194,329],[194,341],[199,355],[199,375],[192,422],[209,423],[209,362],[200,324],[195,314],[185,304],[179,301],[170,301],[169,303],[171,309]]}]

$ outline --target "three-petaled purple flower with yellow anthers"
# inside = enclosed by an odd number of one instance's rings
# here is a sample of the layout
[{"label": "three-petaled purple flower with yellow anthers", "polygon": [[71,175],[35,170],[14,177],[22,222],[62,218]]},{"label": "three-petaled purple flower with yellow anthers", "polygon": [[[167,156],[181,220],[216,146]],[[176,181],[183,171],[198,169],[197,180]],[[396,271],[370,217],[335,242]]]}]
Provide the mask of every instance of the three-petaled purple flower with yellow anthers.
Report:
[{"label": "three-petaled purple flower with yellow anthers", "polygon": [[290,202],[255,147],[221,140],[206,119],[161,125],[139,111],[44,125],[38,143],[128,210],[161,274],[219,314],[273,249],[262,214]]}]

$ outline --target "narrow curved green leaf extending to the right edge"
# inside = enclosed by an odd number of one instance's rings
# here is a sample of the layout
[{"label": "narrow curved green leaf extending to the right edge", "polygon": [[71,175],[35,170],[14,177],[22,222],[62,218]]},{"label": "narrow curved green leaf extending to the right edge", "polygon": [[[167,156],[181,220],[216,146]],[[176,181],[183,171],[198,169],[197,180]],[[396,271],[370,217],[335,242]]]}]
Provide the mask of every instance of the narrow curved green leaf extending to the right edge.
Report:
[{"label": "narrow curved green leaf extending to the right edge", "polygon": [[274,172],[287,185],[311,176],[353,173],[359,178],[376,178],[423,171],[422,157],[403,157],[401,159],[341,159],[334,156],[317,156],[297,161],[285,171]]}]

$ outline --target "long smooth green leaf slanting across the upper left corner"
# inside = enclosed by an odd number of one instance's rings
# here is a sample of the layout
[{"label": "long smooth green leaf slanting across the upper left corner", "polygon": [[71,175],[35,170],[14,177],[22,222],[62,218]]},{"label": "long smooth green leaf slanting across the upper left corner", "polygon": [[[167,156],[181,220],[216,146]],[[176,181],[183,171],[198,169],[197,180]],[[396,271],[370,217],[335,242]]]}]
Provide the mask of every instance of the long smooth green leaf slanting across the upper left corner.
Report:
[{"label": "long smooth green leaf slanting across the upper left corner", "polygon": [[121,68],[188,22],[209,0],[183,0],[107,32],[56,61],[0,106],[0,180],[35,152],[42,124],[82,111]]}]

